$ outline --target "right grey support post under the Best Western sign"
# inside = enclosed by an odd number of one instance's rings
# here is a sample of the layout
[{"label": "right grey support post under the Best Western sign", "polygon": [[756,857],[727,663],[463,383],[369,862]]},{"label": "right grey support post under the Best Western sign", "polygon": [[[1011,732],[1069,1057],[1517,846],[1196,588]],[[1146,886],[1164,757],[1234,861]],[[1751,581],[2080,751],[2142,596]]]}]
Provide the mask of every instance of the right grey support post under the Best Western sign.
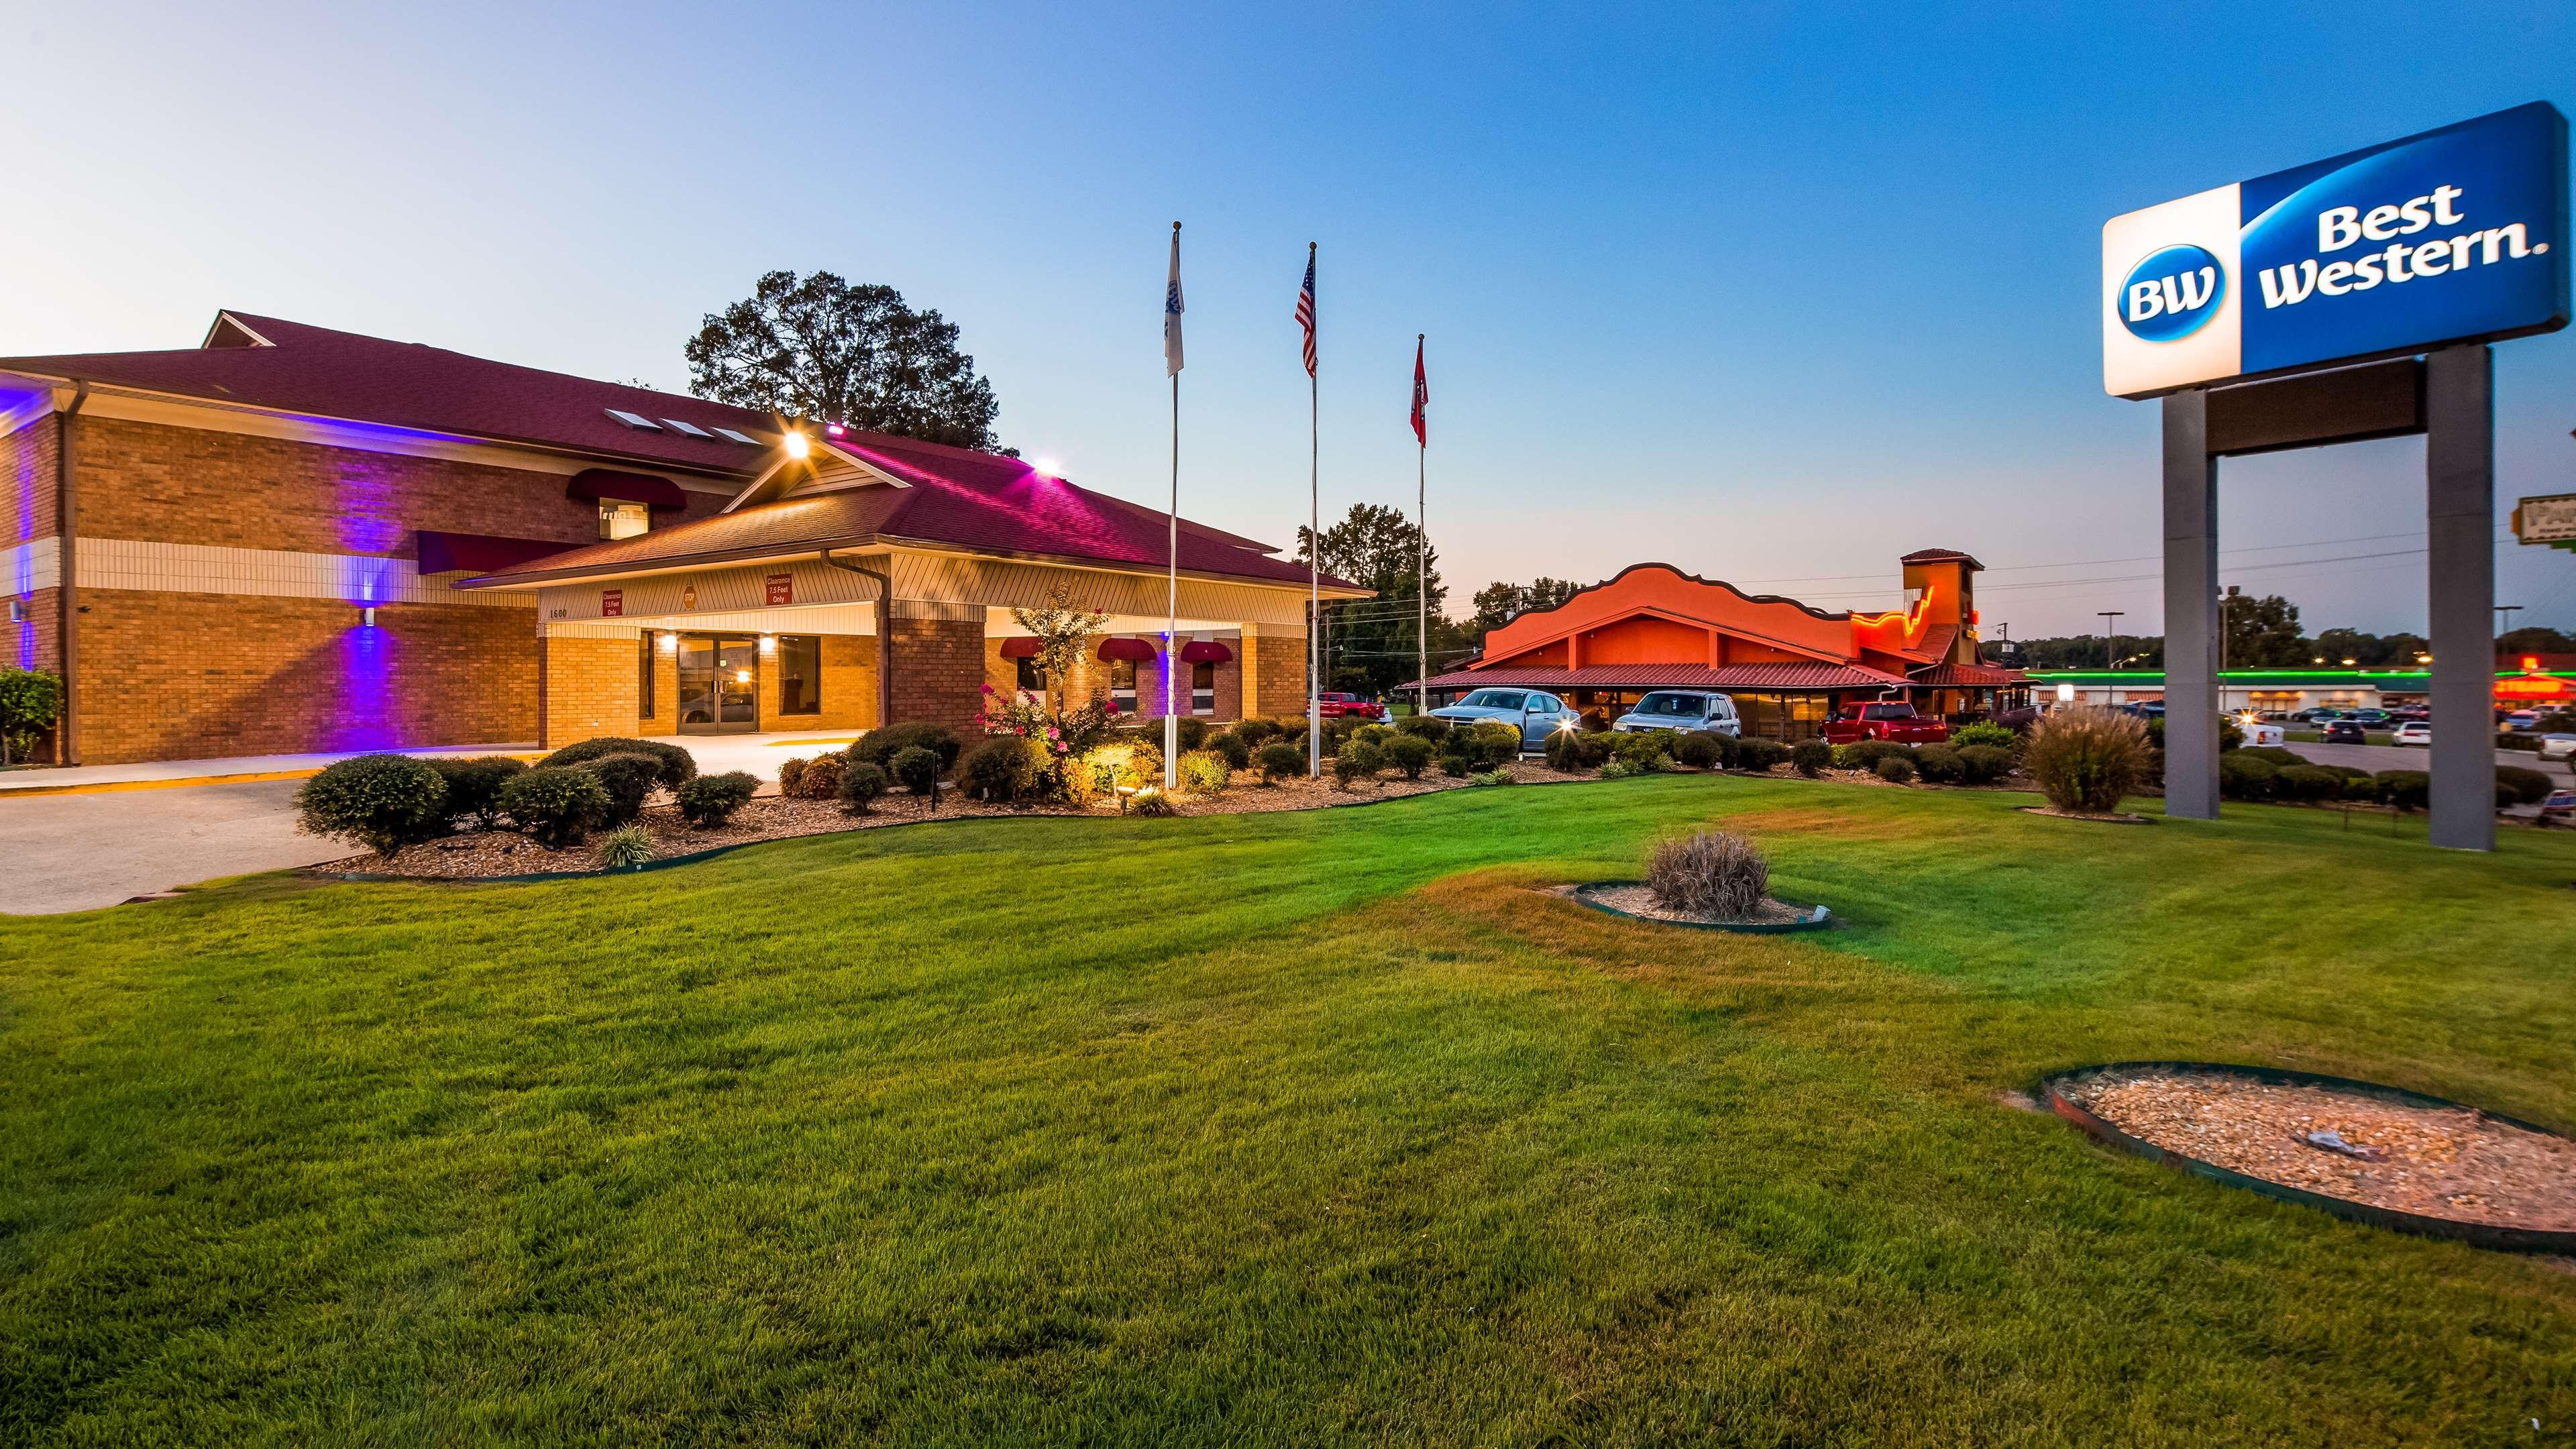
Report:
[{"label": "right grey support post under the Best Western sign", "polygon": [[2496,356],[2424,358],[2432,593],[2432,843],[2496,848]]}]

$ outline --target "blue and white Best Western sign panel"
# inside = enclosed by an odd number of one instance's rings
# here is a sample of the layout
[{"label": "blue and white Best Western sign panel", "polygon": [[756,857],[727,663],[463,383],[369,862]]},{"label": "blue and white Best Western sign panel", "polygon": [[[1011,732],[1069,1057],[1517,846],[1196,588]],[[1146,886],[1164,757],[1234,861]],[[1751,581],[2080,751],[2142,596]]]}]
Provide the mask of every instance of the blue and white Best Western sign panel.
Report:
[{"label": "blue and white Best Western sign panel", "polygon": [[2568,325],[2568,124],[2548,101],[2102,227],[2102,389]]}]

